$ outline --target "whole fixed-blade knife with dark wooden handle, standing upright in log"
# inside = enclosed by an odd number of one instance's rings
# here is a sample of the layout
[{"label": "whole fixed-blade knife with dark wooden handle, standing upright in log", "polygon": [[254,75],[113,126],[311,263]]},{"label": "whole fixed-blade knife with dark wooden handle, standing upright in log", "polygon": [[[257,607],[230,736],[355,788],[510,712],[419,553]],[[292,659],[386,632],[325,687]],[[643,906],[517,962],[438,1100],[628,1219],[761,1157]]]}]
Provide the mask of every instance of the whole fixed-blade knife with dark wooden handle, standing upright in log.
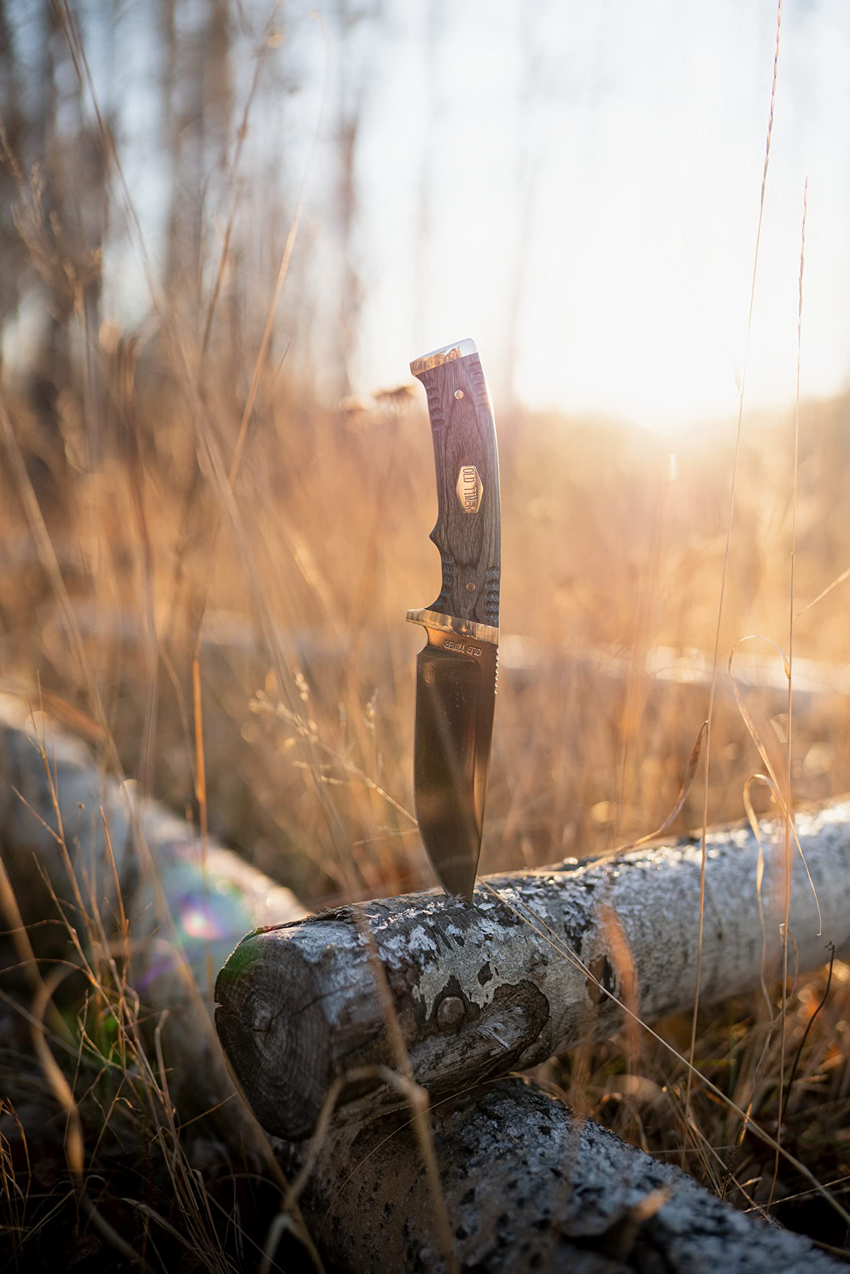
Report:
[{"label": "whole fixed-blade knife with dark wooden handle, standing upright in log", "polygon": [[501,535],[496,426],[472,340],[414,359],[431,417],[442,589],[408,610],[428,641],[417,660],[414,795],[446,893],[472,902],[480,855],[498,666]]}]

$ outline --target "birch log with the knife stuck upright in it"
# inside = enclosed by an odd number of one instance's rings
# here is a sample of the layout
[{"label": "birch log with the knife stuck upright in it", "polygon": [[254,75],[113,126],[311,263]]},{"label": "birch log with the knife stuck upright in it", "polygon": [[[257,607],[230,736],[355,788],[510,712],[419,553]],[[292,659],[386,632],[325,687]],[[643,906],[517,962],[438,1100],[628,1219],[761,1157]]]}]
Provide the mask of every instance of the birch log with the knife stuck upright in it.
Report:
[{"label": "birch log with the knife stuck upright in it", "polygon": [[[850,952],[850,803],[796,828],[813,885],[794,855],[790,931],[807,971],[826,961],[828,941]],[[777,972],[776,837],[762,827],[762,961],[758,841],[743,828],[709,836],[703,1003],[753,990],[762,964],[768,978]],[[679,841],[492,877],[472,903],[417,893],[251,934],[218,977],[219,1037],[263,1124],[289,1139],[310,1134],[347,1071],[394,1065],[382,982],[413,1078],[435,1097],[525,1069],[614,1032],[623,1015],[607,992],[645,1019],[692,1005],[700,868],[698,841]],[[338,1117],[395,1102],[386,1087],[348,1085]]]}]

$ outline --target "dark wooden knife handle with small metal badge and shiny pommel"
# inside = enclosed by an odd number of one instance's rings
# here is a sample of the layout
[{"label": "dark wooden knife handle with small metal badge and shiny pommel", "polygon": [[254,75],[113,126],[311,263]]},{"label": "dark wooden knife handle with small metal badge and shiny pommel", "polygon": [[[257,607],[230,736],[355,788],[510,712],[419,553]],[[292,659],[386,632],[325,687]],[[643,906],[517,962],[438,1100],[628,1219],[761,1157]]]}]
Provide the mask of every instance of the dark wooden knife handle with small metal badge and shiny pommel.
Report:
[{"label": "dark wooden knife handle with small metal badge and shiny pommel", "polygon": [[498,452],[480,359],[463,340],[415,359],[410,371],[428,397],[437,470],[431,539],[442,558],[442,589],[429,609],[498,627]]}]

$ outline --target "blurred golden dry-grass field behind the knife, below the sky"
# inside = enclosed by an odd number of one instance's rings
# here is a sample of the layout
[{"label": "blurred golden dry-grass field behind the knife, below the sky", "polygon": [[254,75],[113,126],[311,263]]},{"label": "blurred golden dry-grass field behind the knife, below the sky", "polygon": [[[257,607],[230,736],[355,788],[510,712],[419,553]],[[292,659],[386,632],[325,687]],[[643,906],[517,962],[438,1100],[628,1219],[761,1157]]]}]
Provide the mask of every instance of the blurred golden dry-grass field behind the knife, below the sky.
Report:
[{"label": "blurred golden dry-grass field behind the knife, below the sky", "polygon": [[[438,591],[422,404],[404,394],[358,412],[306,410],[273,390],[233,485],[233,533],[198,468],[189,413],[163,392],[161,358],[135,372],[124,406],[130,420],[120,409],[102,431],[108,455],[97,473],[69,462],[61,434],[46,438],[41,455],[28,452],[79,646],[55,571],[28,530],[14,468],[5,470],[6,680],[32,688],[38,675],[60,717],[75,726],[83,713],[97,744],[103,721],[94,694],[126,773],[198,817],[200,632],[210,828],[311,903],[352,883],[362,894],[431,883],[415,828],[399,809],[413,809],[421,645],[404,612]],[[98,369],[115,380],[111,362],[98,352]],[[238,419],[213,380],[201,427],[215,431],[224,456]],[[10,410],[25,445],[25,408]],[[804,405],[800,609],[850,561],[846,412],[841,400]],[[757,423],[740,459],[714,822],[743,817],[744,782],[761,768],[726,659],[749,634],[786,645],[791,429],[788,418]],[[503,638],[484,869],[610,850],[672,812],[707,711],[733,446],[730,431],[717,428],[673,457],[668,441],[635,428],[510,413],[500,417],[500,441]],[[798,803],[850,787],[850,687],[845,669],[828,666],[845,660],[840,587],[798,622]],[[744,702],[782,772],[781,657],[748,641],[735,660]],[[294,747],[297,724],[271,711],[282,693],[320,739],[312,776]],[[353,846],[353,875],[339,861],[315,781]],[[767,789],[753,799],[768,808]],[[701,819],[697,782],[674,829]]]}]

